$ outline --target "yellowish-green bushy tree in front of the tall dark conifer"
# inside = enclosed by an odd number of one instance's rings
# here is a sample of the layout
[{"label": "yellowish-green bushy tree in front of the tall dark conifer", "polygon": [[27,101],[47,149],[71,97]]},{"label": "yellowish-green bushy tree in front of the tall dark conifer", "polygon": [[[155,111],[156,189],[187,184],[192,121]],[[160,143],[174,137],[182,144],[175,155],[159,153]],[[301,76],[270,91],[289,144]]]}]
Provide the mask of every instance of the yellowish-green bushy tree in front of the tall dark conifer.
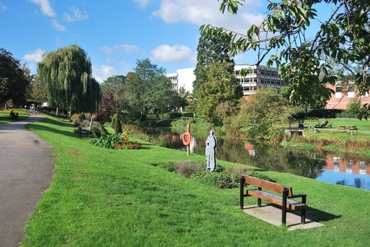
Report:
[{"label": "yellowish-green bushy tree in front of the tall dark conifer", "polygon": [[222,102],[236,105],[237,100],[243,96],[240,83],[230,72],[232,64],[216,61],[207,73],[207,82],[198,92],[198,100],[195,102],[195,112],[207,121],[220,123],[216,107]]}]

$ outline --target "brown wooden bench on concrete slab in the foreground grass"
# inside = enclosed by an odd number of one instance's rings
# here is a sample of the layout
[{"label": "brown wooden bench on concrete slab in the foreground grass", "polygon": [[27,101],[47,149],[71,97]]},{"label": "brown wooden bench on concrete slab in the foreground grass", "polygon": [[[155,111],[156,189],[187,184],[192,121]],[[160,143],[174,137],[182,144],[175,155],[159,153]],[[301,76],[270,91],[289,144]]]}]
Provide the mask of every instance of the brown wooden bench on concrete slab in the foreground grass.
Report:
[{"label": "brown wooden bench on concrete slab in the foreground grass", "polygon": [[[255,186],[257,188],[247,189],[244,193],[244,186]],[[267,191],[262,191],[262,188]],[[275,195],[279,193],[282,195]],[[282,224],[287,224],[287,211],[298,211],[301,210],[301,224],[306,222],[306,194],[293,194],[291,187],[280,185],[279,183],[273,183],[262,179],[257,179],[253,176],[242,175],[241,176],[241,200],[240,206],[244,208],[244,198],[246,196],[254,196],[258,198],[257,206],[261,207],[261,201],[266,200],[270,203],[282,206]],[[302,201],[291,200],[291,198],[302,198]]]}]

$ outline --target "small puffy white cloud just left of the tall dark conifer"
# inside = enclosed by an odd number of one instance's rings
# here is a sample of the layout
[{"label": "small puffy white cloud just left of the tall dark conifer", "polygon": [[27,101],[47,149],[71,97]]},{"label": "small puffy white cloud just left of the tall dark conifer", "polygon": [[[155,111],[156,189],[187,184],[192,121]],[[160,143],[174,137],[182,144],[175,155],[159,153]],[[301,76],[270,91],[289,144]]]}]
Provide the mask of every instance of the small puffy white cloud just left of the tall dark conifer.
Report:
[{"label": "small puffy white cloud just left of the tall dark conifer", "polygon": [[183,45],[175,44],[173,47],[168,44],[161,44],[155,49],[151,50],[151,60],[165,61],[165,62],[191,62],[195,63],[197,56],[192,49]]}]

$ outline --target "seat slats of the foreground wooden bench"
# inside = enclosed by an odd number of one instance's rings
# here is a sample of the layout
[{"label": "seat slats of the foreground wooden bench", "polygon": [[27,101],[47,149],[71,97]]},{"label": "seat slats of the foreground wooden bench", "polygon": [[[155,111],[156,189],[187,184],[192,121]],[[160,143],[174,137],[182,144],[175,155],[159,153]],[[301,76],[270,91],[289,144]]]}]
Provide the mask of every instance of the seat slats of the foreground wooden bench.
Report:
[{"label": "seat slats of the foreground wooden bench", "polygon": [[[282,206],[282,196],[274,195],[267,191],[260,191],[258,189],[247,190],[248,195],[253,195],[256,198],[261,198],[262,200],[267,200],[270,203],[275,203]],[[307,208],[307,205],[304,203],[297,202],[296,200],[287,199],[287,208],[289,210],[303,210]]]}]

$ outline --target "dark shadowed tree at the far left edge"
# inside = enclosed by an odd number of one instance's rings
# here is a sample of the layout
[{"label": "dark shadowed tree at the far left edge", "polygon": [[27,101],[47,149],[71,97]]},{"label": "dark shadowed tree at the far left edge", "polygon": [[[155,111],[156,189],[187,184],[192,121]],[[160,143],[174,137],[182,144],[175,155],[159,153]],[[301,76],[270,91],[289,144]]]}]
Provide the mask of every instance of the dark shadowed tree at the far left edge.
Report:
[{"label": "dark shadowed tree at the far left edge", "polygon": [[32,80],[29,69],[13,58],[11,52],[0,48],[0,102],[25,102],[25,90]]}]

